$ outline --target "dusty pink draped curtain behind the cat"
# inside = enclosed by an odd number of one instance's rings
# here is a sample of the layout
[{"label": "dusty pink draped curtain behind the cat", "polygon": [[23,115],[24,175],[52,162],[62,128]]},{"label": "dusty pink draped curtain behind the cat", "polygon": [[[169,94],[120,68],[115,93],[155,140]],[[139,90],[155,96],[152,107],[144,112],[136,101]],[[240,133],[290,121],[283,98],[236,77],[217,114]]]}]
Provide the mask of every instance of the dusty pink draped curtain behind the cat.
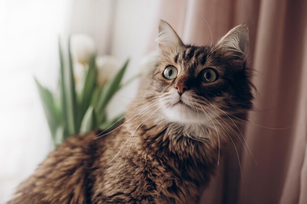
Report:
[{"label": "dusty pink draped curtain behind the cat", "polygon": [[233,151],[201,204],[306,204],[307,1],[168,0],[157,17],[194,45],[215,43],[240,23],[249,27],[258,94],[239,151],[242,171]]}]

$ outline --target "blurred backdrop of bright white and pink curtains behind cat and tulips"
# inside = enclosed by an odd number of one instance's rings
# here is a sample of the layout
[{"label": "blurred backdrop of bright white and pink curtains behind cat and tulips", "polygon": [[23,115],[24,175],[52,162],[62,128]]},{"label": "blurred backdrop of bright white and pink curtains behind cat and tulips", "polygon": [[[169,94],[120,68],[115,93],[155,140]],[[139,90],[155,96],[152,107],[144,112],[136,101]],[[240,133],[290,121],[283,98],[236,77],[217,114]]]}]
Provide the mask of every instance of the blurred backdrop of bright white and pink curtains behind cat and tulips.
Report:
[{"label": "blurred backdrop of bright white and pink curtains behind cat and tulips", "polygon": [[[52,149],[34,76],[56,90],[58,37],[87,34],[98,55],[119,64],[129,57],[125,80],[156,49],[160,19],[194,45],[216,43],[240,23],[249,27],[258,94],[244,135],[253,156],[239,148],[239,164],[230,150],[201,203],[307,203],[306,11],[306,0],[0,0],[0,204]],[[137,87],[136,80],[115,95],[110,117]]]}]

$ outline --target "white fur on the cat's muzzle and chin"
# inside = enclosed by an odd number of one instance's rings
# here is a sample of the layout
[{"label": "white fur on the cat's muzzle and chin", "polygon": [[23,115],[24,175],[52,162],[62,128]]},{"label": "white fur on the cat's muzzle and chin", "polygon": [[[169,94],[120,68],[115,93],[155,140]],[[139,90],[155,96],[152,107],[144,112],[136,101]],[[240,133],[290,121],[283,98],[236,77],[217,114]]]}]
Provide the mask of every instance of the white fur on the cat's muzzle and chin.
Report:
[{"label": "white fur on the cat's muzzle and chin", "polygon": [[[169,91],[169,93],[169,96],[160,100],[162,112],[169,121],[189,124],[205,124],[207,122],[208,118],[205,113],[197,112],[187,105],[177,103],[179,94],[176,89]],[[183,101],[187,101],[191,96],[188,92],[185,92],[181,97]]]}]

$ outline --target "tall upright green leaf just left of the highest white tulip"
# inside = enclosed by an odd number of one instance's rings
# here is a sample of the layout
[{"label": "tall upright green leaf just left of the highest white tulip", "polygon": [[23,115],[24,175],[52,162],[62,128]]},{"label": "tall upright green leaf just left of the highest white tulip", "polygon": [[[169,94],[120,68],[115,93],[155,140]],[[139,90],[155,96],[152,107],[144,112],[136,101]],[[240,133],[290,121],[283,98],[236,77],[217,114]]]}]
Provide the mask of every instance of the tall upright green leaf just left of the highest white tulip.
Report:
[{"label": "tall upright green leaf just left of the highest white tulip", "polygon": [[[68,57],[64,57],[60,41],[60,86],[61,86],[61,107],[62,116],[64,118],[64,133],[66,136],[77,134],[76,115],[77,115],[77,100],[75,92],[75,82],[73,76],[73,62],[70,51],[70,39],[68,43]],[[68,59],[67,59],[68,58]],[[67,60],[64,60],[67,59]]]}]

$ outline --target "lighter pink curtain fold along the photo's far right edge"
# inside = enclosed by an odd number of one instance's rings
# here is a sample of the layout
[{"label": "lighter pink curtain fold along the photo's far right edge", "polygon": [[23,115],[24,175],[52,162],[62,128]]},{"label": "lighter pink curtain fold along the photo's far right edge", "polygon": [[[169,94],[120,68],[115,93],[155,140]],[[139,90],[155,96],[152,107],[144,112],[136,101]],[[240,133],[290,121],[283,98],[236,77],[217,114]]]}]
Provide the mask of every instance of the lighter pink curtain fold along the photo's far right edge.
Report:
[{"label": "lighter pink curtain fold along the photo's far right edge", "polygon": [[[306,6],[306,5],[305,5]],[[304,19],[304,17],[302,18]],[[305,15],[306,19],[306,15]],[[306,20],[305,20],[306,23]],[[303,23],[302,23],[303,24]],[[304,25],[303,25],[304,27]],[[281,204],[304,204],[307,201],[307,28],[303,31],[303,73],[300,77],[300,93],[297,104],[297,125],[294,129],[293,151],[281,196]],[[305,77],[304,77],[305,76]],[[305,133],[305,136],[304,134]]]}]

